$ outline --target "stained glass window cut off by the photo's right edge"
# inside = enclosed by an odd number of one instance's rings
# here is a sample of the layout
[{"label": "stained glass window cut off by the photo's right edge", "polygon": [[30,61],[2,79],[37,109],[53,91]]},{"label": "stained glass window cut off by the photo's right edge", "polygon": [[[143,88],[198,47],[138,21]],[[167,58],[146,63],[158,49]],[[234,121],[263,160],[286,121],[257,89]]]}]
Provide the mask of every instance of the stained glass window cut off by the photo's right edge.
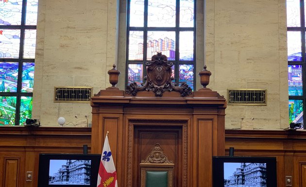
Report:
[{"label": "stained glass window cut off by the photo's right edge", "polygon": [[[302,10],[302,11],[301,11]],[[287,0],[289,124],[304,123],[306,27],[305,0]],[[305,126],[303,125],[305,128]]]}]

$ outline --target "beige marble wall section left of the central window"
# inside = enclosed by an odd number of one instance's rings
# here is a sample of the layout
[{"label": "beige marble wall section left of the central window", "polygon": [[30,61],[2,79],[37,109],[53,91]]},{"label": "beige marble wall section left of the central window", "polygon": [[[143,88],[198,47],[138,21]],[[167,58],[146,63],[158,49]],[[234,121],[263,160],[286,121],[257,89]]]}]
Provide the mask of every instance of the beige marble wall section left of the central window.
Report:
[{"label": "beige marble wall section left of the central window", "polygon": [[39,0],[33,118],[43,126],[58,125],[60,116],[83,126],[89,115],[90,123],[90,103],[54,103],[54,87],[86,86],[98,93],[110,86],[106,72],[117,63],[118,6],[116,0]]}]

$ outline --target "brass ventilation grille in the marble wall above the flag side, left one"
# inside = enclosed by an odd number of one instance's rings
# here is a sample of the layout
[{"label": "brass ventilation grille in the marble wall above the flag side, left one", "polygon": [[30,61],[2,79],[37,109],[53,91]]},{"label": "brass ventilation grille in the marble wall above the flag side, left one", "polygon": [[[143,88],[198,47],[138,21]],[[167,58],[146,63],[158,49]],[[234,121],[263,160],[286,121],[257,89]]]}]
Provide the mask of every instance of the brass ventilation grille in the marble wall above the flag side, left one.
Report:
[{"label": "brass ventilation grille in the marble wall above the flag side, left one", "polygon": [[55,87],[54,102],[90,102],[92,87]]}]

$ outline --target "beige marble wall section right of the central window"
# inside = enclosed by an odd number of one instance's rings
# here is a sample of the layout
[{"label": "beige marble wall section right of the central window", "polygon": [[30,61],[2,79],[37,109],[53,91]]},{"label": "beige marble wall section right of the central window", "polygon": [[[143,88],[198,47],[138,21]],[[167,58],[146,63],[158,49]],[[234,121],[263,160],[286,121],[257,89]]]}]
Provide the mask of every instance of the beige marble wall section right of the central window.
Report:
[{"label": "beige marble wall section right of the central window", "polygon": [[286,1],[206,0],[205,15],[210,88],[267,89],[267,106],[228,105],[226,128],[287,128]]}]

